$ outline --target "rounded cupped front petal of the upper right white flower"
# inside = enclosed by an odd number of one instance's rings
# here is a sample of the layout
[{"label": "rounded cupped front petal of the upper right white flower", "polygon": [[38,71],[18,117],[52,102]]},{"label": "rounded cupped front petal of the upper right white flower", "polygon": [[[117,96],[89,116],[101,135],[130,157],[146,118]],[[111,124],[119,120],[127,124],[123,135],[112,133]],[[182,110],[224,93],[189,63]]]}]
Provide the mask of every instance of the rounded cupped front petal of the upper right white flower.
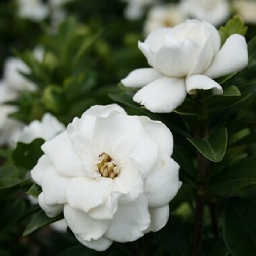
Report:
[{"label": "rounded cupped front petal of the upper right white flower", "polygon": [[201,48],[189,39],[163,45],[154,56],[153,67],[166,76],[183,78],[196,63]]}]

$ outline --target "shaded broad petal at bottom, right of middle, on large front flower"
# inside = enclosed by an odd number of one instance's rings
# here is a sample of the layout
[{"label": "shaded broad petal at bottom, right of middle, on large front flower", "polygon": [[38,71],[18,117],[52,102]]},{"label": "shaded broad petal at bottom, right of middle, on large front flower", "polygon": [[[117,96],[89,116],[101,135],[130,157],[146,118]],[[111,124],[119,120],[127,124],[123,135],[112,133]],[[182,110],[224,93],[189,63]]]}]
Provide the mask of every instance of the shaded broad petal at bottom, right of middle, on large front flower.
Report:
[{"label": "shaded broad petal at bottom, right of middle, on large front flower", "polygon": [[150,215],[146,197],[119,204],[114,219],[104,237],[117,242],[131,242],[144,235],[150,225]]}]

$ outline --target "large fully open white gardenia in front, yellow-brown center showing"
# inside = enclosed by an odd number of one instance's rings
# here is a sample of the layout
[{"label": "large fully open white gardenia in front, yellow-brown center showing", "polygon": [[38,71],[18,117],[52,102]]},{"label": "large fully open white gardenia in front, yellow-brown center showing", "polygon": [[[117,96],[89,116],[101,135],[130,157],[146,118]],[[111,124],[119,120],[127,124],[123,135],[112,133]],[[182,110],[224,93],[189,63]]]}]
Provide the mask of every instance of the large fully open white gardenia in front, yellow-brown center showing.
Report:
[{"label": "large fully open white gardenia in front, yellow-brown center showing", "polygon": [[49,217],[64,211],[85,246],[103,251],[167,223],[181,182],[172,133],[160,121],[116,104],[93,106],[42,150],[31,170],[39,205]]}]

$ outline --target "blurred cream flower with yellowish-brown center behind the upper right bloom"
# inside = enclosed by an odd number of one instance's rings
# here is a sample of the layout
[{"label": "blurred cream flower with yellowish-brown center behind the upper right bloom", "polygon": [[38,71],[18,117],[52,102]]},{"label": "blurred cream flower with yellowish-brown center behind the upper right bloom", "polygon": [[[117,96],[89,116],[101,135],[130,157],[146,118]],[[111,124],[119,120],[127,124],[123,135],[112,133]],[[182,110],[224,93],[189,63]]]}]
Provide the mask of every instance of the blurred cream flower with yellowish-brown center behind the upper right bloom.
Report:
[{"label": "blurred cream flower with yellowish-brown center behind the upper right bloom", "polygon": [[166,4],[154,6],[147,14],[144,25],[144,34],[148,35],[154,29],[161,27],[174,27],[188,18],[179,4]]}]

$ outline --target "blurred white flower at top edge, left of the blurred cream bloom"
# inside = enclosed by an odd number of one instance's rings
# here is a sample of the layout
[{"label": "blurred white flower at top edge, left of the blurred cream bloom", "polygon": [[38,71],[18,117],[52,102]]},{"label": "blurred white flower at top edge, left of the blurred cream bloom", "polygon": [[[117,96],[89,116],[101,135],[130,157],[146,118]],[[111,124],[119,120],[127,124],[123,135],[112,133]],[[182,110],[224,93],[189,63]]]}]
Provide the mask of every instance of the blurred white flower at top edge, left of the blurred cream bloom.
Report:
[{"label": "blurred white flower at top edge, left of the blurred cream bloom", "polygon": [[124,10],[124,16],[128,20],[140,19],[143,15],[144,8],[153,5],[155,0],[122,0],[127,2]]}]

